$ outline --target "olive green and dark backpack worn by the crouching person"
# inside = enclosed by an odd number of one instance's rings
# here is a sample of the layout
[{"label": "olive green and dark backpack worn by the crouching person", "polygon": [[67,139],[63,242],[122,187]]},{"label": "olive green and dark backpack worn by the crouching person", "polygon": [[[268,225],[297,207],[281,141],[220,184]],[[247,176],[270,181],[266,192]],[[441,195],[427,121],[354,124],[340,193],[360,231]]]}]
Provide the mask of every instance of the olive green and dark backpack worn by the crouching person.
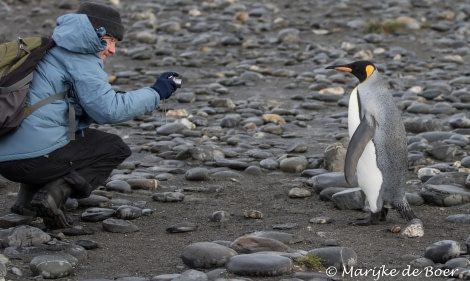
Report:
[{"label": "olive green and dark backpack worn by the crouching person", "polygon": [[[46,52],[55,46],[52,38],[18,38],[0,44],[0,137],[14,132],[24,118],[34,110],[55,100],[67,99],[67,92],[58,93],[33,105],[27,105],[26,95],[33,71]],[[69,104],[69,122],[75,112]],[[73,139],[69,126],[69,139]]]}]

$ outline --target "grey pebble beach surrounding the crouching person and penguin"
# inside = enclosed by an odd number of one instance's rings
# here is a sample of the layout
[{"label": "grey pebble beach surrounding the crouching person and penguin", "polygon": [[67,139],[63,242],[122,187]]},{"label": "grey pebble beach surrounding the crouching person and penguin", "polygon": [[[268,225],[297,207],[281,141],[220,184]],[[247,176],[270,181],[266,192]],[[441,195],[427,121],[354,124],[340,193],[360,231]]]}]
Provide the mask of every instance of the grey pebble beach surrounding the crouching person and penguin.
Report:
[{"label": "grey pebble beach surrounding the crouching person and penguin", "polygon": [[[126,25],[116,91],[176,71],[158,110],[94,128],[133,154],[74,227],[10,213],[0,177],[0,281],[470,279],[470,3],[97,1]],[[0,0],[0,39],[48,36],[79,1]],[[329,65],[370,60],[402,112],[406,198],[419,219],[366,216],[343,175],[349,93]]]}]

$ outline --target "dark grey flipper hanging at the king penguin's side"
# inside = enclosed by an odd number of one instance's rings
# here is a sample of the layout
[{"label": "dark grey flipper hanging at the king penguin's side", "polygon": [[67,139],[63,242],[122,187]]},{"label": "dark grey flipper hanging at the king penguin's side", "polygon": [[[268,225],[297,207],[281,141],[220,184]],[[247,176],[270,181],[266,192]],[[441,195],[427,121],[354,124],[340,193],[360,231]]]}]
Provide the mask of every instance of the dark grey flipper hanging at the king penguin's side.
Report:
[{"label": "dark grey flipper hanging at the king penguin's side", "polygon": [[354,182],[357,162],[359,158],[361,158],[367,143],[374,137],[374,134],[375,120],[368,121],[367,118],[362,118],[361,123],[357,126],[356,131],[354,131],[349,141],[348,151],[346,152],[346,159],[344,161],[344,176],[348,184]]}]

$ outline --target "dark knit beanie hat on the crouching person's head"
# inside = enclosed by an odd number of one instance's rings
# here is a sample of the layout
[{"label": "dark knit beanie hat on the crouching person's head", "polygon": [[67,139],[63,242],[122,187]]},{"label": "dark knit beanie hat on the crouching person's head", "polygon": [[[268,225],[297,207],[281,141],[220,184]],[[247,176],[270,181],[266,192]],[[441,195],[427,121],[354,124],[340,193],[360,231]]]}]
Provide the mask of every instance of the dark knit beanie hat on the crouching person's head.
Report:
[{"label": "dark knit beanie hat on the crouching person's head", "polygon": [[106,34],[116,37],[119,41],[124,37],[121,15],[111,7],[84,2],[78,8],[77,14],[86,14],[94,28],[104,27]]}]

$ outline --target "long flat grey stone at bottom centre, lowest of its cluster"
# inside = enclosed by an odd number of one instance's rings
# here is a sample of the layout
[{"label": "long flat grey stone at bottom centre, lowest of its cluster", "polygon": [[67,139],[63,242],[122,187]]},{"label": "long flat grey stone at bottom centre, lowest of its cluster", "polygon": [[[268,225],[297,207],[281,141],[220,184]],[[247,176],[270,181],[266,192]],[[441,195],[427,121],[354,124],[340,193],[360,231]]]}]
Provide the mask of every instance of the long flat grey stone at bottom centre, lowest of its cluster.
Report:
[{"label": "long flat grey stone at bottom centre, lowest of its cluster", "polygon": [[278,255],[245,254],[232,257],[226,267],[241,276],[279,276],[291,271],[292,260]]}]

